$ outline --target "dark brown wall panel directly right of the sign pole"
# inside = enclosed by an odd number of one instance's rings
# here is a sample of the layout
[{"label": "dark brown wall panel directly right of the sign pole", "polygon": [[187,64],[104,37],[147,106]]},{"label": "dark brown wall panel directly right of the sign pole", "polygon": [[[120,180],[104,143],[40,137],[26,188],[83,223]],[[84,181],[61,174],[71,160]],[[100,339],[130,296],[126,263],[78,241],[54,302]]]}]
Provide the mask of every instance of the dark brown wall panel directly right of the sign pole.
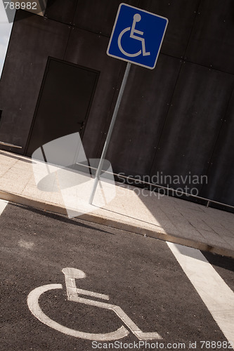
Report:
[{"label": "dark brown wall panel directly right of the sign pole", "polygon": [[116,172],[149,174],[180,67],[167,55],[153,70],[131,66],[107,154]]}]

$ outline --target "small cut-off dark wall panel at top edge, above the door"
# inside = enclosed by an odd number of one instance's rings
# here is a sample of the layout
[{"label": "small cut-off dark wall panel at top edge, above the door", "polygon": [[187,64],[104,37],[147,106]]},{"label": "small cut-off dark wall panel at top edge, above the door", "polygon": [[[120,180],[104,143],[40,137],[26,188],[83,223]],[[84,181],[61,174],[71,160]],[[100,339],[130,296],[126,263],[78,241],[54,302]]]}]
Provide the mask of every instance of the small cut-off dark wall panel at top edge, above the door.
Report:
[{"label": "small cut-off dark wall panel at top edge, above the door", "polygon": [[77,0],[48,0],[45,17],[71,25],[76,8]]}]

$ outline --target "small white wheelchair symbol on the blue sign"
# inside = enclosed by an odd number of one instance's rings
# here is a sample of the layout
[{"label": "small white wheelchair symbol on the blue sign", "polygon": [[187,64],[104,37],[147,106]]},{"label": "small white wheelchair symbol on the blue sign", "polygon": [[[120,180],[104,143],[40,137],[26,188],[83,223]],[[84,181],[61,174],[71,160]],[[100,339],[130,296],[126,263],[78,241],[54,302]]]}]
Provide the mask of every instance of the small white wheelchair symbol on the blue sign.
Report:
[{"label": "small white wheelchair symbol on the blue sign", "polygon": [[[138,55],[141,55],[141,52],[143,54],[143,56],[148,56],[150,55],[150,53],[145,51],[145,39],[143,37],[138,37],[136,34],[139,35],[143,35],[144,32],[141,32],[140,30],[135,29],[136,27],[136,22],[140,22],[141,21],[141,15],[139,15],[139,13],[136,13],[136,15],[134,15],[134,21],[131,25],[131,27],[127,27],[124,28],[122,30],[122,32],[119,34],[119,38],[118,38],[118,46],[119,46],[119,50],[126,56],[129,56],[129,58],[134,58]],[[126,53],[126,51],[124,51],[124,49],[122,48],[122,44],[121,44],[121,39],[122,36],[124,35],[124,33],[126,32],[130,32],[130,38],[136,39],[141,41],[141,45],[142,45],[142,50],[138,51],[138,53]]]}]

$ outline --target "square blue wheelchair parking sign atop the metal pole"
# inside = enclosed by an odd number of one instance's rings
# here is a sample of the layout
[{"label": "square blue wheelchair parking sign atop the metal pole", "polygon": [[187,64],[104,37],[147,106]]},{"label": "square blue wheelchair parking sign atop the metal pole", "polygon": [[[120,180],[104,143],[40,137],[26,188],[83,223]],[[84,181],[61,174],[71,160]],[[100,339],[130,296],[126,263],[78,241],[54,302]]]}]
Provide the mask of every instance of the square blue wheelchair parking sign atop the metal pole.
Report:
[{"label": "square blue wheelchair parking sign atop the metal pole", "polygon": [[120,4],[108,45],[108,55],[155,68],[168,20],[155,13]]}]

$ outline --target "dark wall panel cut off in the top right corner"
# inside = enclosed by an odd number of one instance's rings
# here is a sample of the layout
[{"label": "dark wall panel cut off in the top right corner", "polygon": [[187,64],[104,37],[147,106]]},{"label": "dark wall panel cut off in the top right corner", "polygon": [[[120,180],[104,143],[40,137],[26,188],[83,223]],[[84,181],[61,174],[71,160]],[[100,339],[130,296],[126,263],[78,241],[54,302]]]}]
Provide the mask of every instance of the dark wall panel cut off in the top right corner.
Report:
[{"label": "dark wall panel cut off in the top right corner", "polygon": [[234,73],[234,1],[202,0],[186,58]]}]

